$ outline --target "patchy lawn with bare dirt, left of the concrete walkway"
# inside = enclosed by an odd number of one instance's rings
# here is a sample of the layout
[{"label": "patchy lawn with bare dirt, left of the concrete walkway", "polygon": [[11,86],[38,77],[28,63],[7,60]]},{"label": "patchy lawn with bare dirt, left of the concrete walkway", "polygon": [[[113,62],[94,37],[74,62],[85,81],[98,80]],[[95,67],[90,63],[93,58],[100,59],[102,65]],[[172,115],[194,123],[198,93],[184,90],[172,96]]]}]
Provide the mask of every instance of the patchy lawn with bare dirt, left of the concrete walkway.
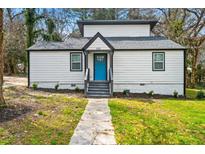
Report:
[{"label": "patchy lawn with bare dirt, left of the concrete walkway", "polygon": [[0,109],[0,144],[69,144],[87,104],[80,95],[23,86],[6,88],[4,96],[8,107]]}]

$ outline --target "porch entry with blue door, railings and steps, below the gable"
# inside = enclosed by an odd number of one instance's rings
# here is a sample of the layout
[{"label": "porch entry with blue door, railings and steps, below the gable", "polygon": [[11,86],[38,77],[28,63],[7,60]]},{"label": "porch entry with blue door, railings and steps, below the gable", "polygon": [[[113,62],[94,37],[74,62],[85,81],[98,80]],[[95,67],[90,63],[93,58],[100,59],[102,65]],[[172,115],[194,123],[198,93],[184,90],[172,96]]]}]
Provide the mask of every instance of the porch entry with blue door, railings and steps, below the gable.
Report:
[{"label": "porch entry with blue door, railings and steps, below the gable", "polygon": [[89,97],[113,95],[113,53],[87,51],[85,56],[84,92]]}]

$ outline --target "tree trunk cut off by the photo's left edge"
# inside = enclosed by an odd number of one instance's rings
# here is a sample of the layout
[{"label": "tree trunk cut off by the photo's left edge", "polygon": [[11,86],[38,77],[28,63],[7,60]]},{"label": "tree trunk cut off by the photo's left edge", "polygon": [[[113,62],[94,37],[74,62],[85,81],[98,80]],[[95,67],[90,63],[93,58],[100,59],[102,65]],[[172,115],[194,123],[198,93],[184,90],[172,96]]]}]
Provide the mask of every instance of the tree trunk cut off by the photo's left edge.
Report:
[{"label": "tree trunk cut off by the photo's left edge", "polygon": [[5,100],[3,97],[3,72],[4,72],[4,62],[3,62],[3,9],[0,9],[0,106],[5,105]]}]

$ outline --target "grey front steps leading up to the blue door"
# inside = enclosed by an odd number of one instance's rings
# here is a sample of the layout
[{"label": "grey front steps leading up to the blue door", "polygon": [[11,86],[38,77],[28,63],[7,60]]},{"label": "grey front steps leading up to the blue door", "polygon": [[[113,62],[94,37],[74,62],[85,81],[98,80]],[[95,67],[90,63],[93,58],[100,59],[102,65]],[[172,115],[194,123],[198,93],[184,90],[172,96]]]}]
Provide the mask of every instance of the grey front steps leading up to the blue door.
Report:
[{"label": "grey front steps leading up to the blue door", "polygon": [[88,86],[88,97],[110,97],[109,82],[107,81],[92,81]]}]

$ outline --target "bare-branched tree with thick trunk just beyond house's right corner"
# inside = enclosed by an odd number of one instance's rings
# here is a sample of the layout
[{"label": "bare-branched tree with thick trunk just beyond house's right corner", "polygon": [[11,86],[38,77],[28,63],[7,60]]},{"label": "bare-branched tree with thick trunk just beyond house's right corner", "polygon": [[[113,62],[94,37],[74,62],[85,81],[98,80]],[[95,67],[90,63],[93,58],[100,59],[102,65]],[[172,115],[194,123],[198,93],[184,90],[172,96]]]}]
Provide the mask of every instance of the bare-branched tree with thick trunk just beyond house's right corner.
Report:
[{"label": "bare-branched tree with thick trunk just beyond house's right corner", "polygon": [[191,65],[191,87],[195,87],[200,48],[205,41],[205,9],[159,9],[163,18],[158,32],[188,47],[187,64]]}]

